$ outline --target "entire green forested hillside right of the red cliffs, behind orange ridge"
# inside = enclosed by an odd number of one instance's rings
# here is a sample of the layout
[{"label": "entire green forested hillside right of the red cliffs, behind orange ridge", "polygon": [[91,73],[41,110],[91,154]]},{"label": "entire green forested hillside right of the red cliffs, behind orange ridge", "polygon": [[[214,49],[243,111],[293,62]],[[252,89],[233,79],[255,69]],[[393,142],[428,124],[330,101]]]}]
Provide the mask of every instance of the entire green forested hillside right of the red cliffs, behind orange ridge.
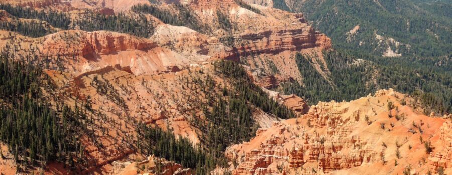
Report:
[{"label": "entire green forested hillside right of the red cliffs, behind orange ridge", "polygon": [[452,111],[451,0],[274,0],[274,7],[303,13],[334,47],[324,54],[327,77],[312,66],[316,55],[296,55],[303,84],[286,83],[283,92],[315,104],[394,88],[415,95],[425,112]]}]

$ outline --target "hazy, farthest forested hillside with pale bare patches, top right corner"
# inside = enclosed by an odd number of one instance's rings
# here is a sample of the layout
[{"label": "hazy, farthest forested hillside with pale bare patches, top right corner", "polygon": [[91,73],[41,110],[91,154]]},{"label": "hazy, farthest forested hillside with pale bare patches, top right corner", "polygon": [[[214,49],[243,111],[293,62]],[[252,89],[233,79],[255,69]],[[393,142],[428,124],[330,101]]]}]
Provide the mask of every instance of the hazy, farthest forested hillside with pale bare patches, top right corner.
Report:
[{"label": "hazy, farthest forested hillside with pale bare patches, top right corner", "polygon": [[[283,0],[274,1],[283,6]],[[295,0],[287,6],[304,13],[335,47],[421,57],[452,50],[450,0]]]}]

